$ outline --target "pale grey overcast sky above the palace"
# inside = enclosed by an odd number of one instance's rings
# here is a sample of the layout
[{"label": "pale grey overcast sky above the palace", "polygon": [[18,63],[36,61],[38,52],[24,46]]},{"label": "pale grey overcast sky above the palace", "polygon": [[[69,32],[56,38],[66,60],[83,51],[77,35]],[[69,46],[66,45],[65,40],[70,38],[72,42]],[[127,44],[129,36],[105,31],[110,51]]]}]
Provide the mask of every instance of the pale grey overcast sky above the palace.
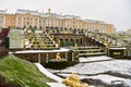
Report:
[{"label": "pale grey overcast sky above the palace", "polygon": [[16,9],[48,9],[58,14],[79,15],[83,20],[99,20],[114,24],[117,30],[131,27],[131,0],[0,0],[0,9],[14,13]]}]

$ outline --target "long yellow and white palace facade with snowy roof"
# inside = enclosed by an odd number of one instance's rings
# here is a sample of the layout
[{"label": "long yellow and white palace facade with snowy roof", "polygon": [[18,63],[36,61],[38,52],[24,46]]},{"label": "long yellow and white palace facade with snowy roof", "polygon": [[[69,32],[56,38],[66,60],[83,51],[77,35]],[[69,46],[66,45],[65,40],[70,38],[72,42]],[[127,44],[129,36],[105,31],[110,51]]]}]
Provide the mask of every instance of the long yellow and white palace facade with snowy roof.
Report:
[{"label": "long yellow and white palace facade with snowy roof", "polygon": [[75,15],[59,15],[51,13],[50,10],[47,13],[39,13],[38,11],[19,9],[15,14],[9,14],[5,10],[0,10],[0,27],[57,28],[107,34],[116,32],[112,24],[103,21],[82,20]]}]

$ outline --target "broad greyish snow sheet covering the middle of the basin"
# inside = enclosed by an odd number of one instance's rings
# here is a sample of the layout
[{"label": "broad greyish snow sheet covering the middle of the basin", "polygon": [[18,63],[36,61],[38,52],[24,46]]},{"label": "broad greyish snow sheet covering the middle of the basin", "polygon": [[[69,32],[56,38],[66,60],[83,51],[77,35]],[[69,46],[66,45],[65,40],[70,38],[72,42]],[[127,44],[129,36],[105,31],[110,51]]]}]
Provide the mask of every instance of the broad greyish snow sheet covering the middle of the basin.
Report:
[{"label": "broad greyish snow sheet covering the middle of the basin", "polygon": [[92,62],[92,63],[79,63],[74,66],[67,67],[60,72],[72,71],[79,74],[97,74],[108,71],[130,71],[131,61],[130,60],[112,60],[112,61],[102,61],[102,62]]}]

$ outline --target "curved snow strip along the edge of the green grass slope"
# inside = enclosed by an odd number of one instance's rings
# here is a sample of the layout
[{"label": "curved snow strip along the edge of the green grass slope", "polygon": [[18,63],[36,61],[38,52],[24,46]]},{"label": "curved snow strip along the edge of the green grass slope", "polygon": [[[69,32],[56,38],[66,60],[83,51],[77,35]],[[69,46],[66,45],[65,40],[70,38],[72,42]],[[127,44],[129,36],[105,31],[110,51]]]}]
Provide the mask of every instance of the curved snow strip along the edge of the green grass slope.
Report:
[{"label": "curved snow strip along the edge of the green grass slope", "polygon": [[62,78],[60,78],[60,77],[53,75],[52,73],[48,72],[41,64],[35,63],[35,65],[36,65],[36,66],[38,67],[38,70],[39,70],[43,74],[45,74],[47,77],[52,78],[52,79],[55,79],[55,80],[57,80],[57,82],[59,82],[59,83],[62,82]]}]

